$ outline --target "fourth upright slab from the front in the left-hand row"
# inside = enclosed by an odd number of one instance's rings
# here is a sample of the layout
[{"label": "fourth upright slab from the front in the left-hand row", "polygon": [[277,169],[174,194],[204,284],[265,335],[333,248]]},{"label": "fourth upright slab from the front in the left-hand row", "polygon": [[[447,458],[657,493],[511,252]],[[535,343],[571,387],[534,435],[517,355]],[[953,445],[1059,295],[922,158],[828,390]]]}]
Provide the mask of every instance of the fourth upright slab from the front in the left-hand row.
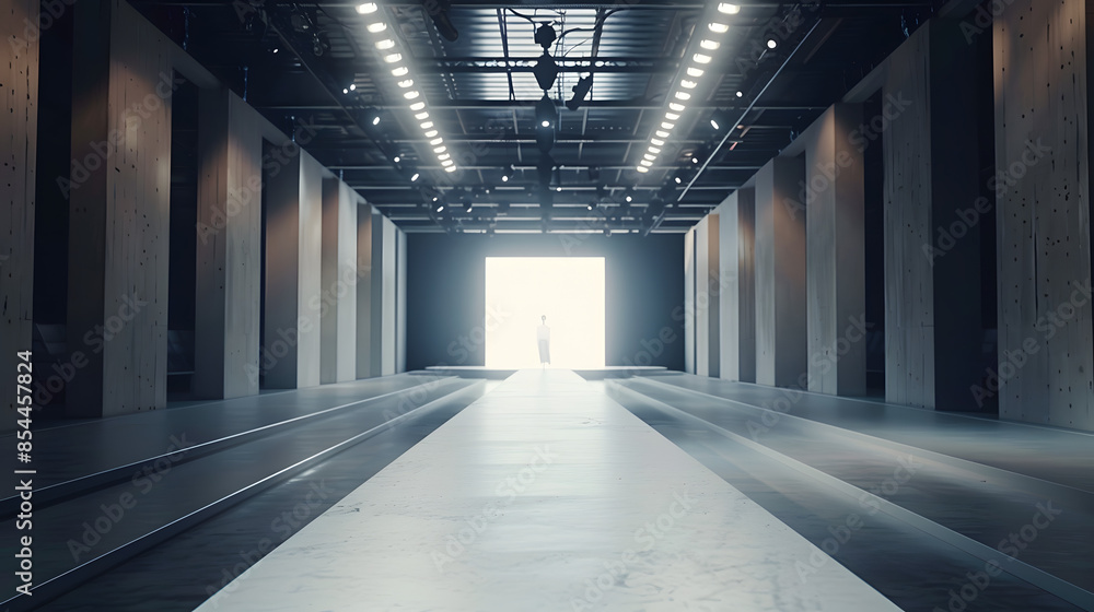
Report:
[{"label": "fourth upright slab from the front in the left-hand row", "polygon": [[[323,167],[299,148],[268,177],[266,195],[266,386],[319,384]],[[271,360],[267,360],[269,362]]]}]

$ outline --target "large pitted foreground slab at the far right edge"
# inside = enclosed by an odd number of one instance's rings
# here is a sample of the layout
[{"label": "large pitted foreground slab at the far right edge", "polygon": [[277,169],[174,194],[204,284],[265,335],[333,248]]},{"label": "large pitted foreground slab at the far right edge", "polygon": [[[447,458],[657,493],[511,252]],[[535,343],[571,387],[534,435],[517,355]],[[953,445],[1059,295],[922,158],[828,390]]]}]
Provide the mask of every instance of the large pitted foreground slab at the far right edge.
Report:
[{"label": "large pitted foreground slab at the far right edge", "polygon": [[1083,429],[1094,429],[1089,4],[1015,0],[993,32],[996,163],[1005,181],[997,190],[999,415]]}]

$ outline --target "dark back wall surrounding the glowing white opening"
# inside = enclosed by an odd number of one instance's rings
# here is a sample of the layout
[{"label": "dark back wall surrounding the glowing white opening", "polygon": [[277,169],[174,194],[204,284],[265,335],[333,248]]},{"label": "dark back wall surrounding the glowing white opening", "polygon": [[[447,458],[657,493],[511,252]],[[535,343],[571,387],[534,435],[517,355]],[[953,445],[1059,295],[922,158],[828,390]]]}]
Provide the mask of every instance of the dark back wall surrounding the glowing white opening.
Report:
[{"label": "dark back wall surrounding the glowing white opening", "polygon": [[482,365],[486,258],[521,256],[604,257],[605,363],[649,358],[684,369],[684,236],[677,234],[409,234],[407,369]]}]

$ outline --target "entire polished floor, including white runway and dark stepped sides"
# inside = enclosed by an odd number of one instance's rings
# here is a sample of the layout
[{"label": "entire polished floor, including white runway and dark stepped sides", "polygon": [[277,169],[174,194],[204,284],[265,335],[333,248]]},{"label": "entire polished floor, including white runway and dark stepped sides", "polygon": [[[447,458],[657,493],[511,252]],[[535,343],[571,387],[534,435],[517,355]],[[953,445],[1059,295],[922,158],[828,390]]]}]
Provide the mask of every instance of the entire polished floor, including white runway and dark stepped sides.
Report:
[{"label": "entire polished floor, including white runway and dark stepped sides", "polygon": [[43,584],[0,609],[1094,610],[1091,434],[679,373],[441,374],[42,429]]}]

